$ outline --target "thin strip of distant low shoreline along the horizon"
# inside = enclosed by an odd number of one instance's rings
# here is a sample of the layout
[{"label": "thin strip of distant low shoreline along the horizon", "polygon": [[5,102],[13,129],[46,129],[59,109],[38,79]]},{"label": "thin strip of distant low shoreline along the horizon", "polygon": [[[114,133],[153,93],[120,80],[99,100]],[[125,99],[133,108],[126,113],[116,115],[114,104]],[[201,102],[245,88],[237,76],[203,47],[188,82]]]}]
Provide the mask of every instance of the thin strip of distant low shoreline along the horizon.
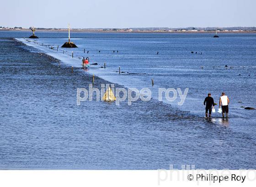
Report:
[{"label": "thin strip of distant low shoreline along the horizon", "polygon": [[[0,31],[31,31],[30,29],[1,29]],[[36,32],[68,32],[68,29],[54,29],[54,30],[48,30],[48,29],[38,29]],[[215,31],[102,31],[102,30],[78,30],[78,29],[72,29],[72,32],[84,32],[84,33],[93,33],[93,32],[99,32],[99,33],[215,33]],[[218,31],[219,33],[256,33],[256,31]]]}]

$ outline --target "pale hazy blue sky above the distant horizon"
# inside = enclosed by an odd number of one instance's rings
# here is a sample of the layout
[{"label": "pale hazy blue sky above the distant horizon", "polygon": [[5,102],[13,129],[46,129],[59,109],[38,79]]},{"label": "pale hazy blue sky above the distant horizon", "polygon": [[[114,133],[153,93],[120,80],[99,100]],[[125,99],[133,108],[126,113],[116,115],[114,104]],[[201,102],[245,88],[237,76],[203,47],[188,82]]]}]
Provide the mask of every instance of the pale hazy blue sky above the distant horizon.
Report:
[{"label": "pale hazy blue sky above the distant horizon", "polygon": [[256,0],[1,0],[0,26],[256,26]]}]

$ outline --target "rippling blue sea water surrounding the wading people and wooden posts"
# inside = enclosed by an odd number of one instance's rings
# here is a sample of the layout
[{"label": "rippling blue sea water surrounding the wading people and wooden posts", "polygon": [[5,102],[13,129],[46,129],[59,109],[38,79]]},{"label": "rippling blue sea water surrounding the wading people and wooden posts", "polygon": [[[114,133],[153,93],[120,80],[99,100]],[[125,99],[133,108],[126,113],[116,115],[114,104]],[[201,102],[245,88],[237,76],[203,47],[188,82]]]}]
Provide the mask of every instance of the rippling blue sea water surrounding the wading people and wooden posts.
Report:
[{"label": "rippling blue sea water surrounding the wading people and wooden posts", "polygon": [[[256,168],[256,111],[241,108],[256,108],[256,34],[212,38],[212,34],[71,33],[79,48],[65,49],[64,55],[56,47],[66,42],[67,33],[36,34],[37,42],[47,47],[0,40],[0,168],[158,169],[170,164]],[[2,38],[30,35],[0,32]],[[61,67],[37,52],[63,60]],[[99,65],[84,72],[83,56]],[[106,69],[101,68],[104,62]],[[126,73],[118,75],[119,66]],[[131,106],[101,101],[77,106],[76,88],[88,88],[89,73],[103,78],[97,78],[98,87],[111,82],[117,87],[150,88],[153,99]],[[158,88],[189,88],[189,92],[178,106],[180,100],[159,102]],[[218,103],[222,91],[230,99],[229,119],[218,113],[212,120],[204,119],[203,99],[211,92]]]}]

